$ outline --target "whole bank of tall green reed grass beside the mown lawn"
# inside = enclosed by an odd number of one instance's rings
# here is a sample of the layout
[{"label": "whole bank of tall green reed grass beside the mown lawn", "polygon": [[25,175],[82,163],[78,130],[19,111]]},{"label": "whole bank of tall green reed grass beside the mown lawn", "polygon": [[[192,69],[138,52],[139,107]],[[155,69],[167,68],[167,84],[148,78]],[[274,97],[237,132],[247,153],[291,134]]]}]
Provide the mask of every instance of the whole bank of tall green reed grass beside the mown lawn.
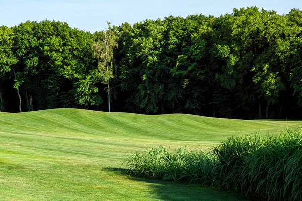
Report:
[{"label": "whole bank of tall green reed grass beside the mown lawn", "polygon": [[136,176],[235,189],[263,200],[302,200],[302,133],[235,136],[209,152],[159,147],[125,163]]}]

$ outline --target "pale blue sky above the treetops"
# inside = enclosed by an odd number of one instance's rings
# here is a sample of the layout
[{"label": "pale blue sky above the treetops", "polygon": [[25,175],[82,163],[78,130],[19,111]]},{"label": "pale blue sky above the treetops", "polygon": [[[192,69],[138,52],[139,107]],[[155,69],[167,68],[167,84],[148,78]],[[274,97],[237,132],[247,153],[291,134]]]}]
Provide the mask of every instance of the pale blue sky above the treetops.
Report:
[{"label": "pale blue sky above the treetops", "polygon": [[231,14],[233,8],[257,6],[287,14],[293,8],[302,10],[302,0],[0,0],[0,26],[12,27],[21,22],[55,20],[67,22],[80,30],[104,30],[107,21],[119,26],[133,25],[146,19],[173,15],[187,17],[203,14]]}]

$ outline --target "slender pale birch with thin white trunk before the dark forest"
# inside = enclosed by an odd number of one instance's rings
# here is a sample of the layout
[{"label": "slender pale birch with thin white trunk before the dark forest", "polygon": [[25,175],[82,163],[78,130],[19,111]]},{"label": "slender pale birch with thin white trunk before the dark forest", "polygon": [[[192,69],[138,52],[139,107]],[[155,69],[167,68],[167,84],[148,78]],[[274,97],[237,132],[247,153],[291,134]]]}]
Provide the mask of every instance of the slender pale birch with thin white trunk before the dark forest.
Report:
[{"label": "slender pale birch with thin white trunk before the dark forest", "polygon": [[97,32],[97,40],[93,43],[93,57],[98,60],[98,75],[101,82],[108,85],[108,111],[110,112],[110,79],[113,78],[113,50],[118,47],[116,38],[107,22],[108,29]]}]

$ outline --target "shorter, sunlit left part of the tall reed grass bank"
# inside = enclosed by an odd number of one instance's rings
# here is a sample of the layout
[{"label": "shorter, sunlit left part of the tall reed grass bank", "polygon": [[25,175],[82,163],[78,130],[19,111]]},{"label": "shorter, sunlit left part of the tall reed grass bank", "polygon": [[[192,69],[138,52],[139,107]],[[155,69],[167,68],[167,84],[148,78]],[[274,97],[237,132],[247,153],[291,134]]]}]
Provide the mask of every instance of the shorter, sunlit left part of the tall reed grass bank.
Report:
[{"label": "shorter, sunlit left part of the tall reed grass bank", "polygon": [[191,183],[210,183],[214,165],[215,159],[202,150],[179,148],[168,152],[163,147],[132,153],[126,163],[128,171],[135,176]]}]

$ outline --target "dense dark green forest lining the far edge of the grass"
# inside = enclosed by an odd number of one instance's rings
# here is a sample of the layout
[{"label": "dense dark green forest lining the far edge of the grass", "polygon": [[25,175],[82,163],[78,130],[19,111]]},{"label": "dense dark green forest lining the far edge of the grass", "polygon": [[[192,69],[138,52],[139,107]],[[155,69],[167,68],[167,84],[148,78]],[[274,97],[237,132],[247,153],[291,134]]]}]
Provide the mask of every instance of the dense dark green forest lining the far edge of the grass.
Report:
[{"label": "dense dark green forest lining the far edge of the grass", "polygon": [[108,111],[108,94],[111,111],[301,119],[302,11],[0,27],[1,111]]}]

